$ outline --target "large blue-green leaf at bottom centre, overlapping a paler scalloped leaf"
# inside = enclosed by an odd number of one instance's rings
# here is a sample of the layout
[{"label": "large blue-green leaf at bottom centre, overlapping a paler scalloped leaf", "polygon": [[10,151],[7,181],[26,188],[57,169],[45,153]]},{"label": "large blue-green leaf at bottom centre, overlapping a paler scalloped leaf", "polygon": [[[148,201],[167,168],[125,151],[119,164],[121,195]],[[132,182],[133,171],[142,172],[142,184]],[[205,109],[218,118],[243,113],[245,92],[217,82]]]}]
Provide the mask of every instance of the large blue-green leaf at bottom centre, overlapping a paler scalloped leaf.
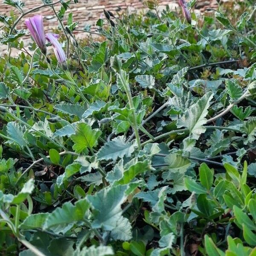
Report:
[{"label": "large blue-green leaf at bottom centre, overlapping a paler scalloped leaf", "polygon": [[121,205],[127,198],[126,185],[111,186],[96,192],[94,195],[87,195],[87,200],[93,206],[93,228],[113,230],[119,218],[122,217]]}]

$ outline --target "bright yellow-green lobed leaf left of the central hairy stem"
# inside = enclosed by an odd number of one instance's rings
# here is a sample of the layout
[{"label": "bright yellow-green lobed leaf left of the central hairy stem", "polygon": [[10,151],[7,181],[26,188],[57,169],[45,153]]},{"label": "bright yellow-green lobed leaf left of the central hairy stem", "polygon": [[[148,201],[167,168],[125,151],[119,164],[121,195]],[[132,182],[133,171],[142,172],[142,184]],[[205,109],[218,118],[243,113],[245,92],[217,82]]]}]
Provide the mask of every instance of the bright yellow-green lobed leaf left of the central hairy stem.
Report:
[{"label": "bright yellow-green lobed leaf left of the central hairy stem", "polygon": [[73,149],[81,153],[87,148],[92,149],[98,144],[97,140],[101,135],[99,129],[92,129],[87,123],[79,123],[76,126],[76,134],[72,134],[71,140],[75,143]]}]

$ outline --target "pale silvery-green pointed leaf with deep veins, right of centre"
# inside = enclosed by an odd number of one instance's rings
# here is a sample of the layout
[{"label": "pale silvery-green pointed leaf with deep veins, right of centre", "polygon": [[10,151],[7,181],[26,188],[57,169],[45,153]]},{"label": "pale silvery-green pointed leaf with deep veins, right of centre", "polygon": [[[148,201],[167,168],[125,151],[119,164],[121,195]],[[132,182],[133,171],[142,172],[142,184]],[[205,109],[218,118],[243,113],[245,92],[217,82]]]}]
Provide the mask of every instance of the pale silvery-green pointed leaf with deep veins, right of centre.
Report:
[{"label": "pale silvery-green pointed leaf with deep veins, right of centre", "polygon": [[200,134],[203,133],[206,128],[203,127],[206,124],[207,109],[210,106],[210,101],[213,97],[212,93],[204,94],[204,96],[192,105],[184,115],[178,119],[177,128],[186,127],[189,128],[193,139],[198,139]]}]

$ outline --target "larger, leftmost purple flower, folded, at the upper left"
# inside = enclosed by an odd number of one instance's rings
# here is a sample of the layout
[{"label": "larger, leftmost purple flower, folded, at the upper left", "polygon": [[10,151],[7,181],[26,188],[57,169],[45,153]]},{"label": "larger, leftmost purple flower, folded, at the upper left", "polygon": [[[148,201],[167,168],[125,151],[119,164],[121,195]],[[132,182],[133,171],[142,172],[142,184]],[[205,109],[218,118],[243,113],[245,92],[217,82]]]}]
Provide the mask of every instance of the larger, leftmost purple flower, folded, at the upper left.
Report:
[{"label": "larger, leftmost purple flower, folded, at the upper left", "polygon": [[26,19],[25,23],[41,52],[46,54],[43,16],[35,15]]}]

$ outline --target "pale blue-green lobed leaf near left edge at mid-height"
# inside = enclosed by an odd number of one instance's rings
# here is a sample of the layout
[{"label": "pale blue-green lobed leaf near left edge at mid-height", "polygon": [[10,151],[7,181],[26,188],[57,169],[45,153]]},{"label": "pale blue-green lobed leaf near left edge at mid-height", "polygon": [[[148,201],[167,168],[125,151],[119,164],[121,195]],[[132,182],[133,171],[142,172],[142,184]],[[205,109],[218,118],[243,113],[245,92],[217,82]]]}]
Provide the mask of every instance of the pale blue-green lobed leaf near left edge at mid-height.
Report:
[{"label": "pale blue-green lobed leaf near left edge at mid-height", "polygon": [[24,139],[24,132],[25,128],[17,122],[9,122],[7,124],[7,133],[10,140],[8,140],[7,143],[16,143],[21,148],[24,148],[27,145],[27,142]]}]

